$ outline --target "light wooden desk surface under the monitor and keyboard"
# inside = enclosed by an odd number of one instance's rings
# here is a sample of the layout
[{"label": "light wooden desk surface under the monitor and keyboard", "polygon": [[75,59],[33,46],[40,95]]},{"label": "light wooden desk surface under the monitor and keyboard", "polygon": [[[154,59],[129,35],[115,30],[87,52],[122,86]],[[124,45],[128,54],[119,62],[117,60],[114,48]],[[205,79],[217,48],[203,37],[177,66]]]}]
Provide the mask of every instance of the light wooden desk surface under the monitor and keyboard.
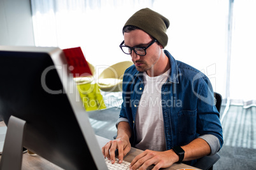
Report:
[{"label": "light wooden desk surface under the monitor and keyboard", "polygon": [[[4,122],[1,121],[0,122],[0,126],[5,126]],[[97,141],[99,143],[100,147],[103,147],[108,141],[108,139],[103,138],[101,136],[97,136]],[[129,152],[129,154],[127,154],[124,158],[124,160],[131,162],[132,159],[134,157],[136,157],[136,155],[140,154],[141,152],[143,152],[142,150],[138,150],[136,148],[131,148],[131,151]],[[0,156],[1,159],[1,156]],[[188,166],[186,164],[173,164],[173,166],[167,168],[167,169],[184,169],[184,168],[190,168],[190,169],[196,169],[192,166]],[[22,169],[62,169],[59,166],[56,166],[55,164],[52,164],[51,162],[49,162],[46,159],[43,159],[42,157],[39,157],[38,155],[36,156],[31,156],[27,153],[23,154],[23,159],[22,159]]]}]

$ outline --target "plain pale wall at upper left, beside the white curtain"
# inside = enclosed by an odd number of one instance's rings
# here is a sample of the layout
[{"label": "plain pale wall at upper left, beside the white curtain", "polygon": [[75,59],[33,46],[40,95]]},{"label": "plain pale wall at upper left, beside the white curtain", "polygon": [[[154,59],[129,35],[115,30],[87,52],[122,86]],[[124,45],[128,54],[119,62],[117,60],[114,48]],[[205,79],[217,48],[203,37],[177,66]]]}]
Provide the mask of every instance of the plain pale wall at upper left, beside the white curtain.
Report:
[{"label": "plain pale wall at upper left, beside the white curtain", "polygon": [[0,0],[0,45],[34,46],[30,0]]}]

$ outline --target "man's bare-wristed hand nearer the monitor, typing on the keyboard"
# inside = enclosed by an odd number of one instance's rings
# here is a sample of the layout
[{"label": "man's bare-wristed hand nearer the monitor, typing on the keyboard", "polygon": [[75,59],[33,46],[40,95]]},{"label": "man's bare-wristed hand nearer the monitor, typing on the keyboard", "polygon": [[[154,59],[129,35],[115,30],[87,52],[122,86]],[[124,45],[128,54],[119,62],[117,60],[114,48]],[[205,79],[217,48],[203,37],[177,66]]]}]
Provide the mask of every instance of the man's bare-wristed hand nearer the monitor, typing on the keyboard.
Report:
[{"label": "man's bare-wristed hand nearer the monitor, typing on the keyboard", "polygon": [[122,163],[124,156],[131,150],[131,143],[129,138],[117,138],[116,140],[109,141],[102,148],[104,157],[111,160],[111,163],[115,163],[115,150],[118,149],[118,162]]}]

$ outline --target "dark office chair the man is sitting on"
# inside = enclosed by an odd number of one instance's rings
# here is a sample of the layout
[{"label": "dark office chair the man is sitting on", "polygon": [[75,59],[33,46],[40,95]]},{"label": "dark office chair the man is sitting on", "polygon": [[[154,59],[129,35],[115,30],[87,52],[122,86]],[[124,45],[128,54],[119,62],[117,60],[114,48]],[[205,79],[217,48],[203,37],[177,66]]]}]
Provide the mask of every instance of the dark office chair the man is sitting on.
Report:
[{"label": "dark office chair the man is sitting on", "polygon": [[[215,107],[217,108],[218,112],[220,112],[220,107],[222,105],[222,95],[219,93],[214,92],[214,103]],[[213,170],[213,164],[215,164],[220,159],[220,155],[210,155],[202,157],[198,159],[194,167],[204,170]]]}]

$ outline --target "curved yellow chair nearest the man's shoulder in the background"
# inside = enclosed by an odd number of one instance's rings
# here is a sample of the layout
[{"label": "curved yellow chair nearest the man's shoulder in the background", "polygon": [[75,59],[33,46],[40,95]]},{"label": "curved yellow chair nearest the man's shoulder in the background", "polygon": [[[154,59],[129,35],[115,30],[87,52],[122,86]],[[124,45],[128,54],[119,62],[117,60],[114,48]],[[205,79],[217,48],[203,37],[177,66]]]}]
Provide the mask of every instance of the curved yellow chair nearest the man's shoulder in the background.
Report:
[{"label": "curved yellow chair nearest the man's shoulder in the background", "polygon": [[122,91],[124,72],[132,64],[131,61],[115,63],[103,70],[98,77],[99,89],[110,92]]}]

